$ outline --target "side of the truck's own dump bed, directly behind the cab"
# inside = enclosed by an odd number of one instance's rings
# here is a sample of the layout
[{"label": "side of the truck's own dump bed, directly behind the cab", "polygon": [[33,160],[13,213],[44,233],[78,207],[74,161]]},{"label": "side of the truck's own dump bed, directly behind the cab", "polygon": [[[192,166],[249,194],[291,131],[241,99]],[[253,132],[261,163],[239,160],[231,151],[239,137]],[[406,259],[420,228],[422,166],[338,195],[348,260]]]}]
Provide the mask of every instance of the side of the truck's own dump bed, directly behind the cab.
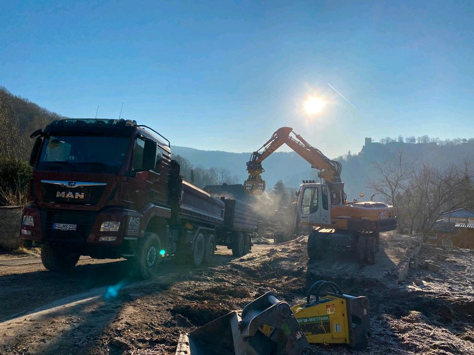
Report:
[{"label": "side of the truck's own dump bed, directly behind the cab", "polygon": [[189,182],[183,181],[179,213],[188,219],[206,221],[213,225],[224,222],[224,202]]}]

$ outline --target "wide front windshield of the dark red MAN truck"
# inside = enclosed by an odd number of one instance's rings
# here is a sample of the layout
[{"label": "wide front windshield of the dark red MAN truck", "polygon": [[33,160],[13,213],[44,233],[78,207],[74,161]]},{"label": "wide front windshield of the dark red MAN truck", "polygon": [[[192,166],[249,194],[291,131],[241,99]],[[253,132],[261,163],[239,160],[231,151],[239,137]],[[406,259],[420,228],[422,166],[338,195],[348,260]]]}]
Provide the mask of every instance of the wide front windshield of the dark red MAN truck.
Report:
[{"label": "wide front windshield of the dark red MAN truck", "polygon": [[49,136],[44,139],[38,170],[118,173],[128,137]]}]

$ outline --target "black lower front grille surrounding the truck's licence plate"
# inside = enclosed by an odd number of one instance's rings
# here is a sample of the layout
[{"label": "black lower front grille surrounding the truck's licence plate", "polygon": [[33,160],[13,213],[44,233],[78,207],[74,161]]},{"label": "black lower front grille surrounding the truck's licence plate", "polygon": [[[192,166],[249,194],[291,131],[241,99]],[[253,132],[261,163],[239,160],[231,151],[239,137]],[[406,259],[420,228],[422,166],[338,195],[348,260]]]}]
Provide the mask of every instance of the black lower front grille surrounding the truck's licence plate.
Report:
[{"label": "black lower front grille surrounding the truck's licence plate", "polygon": [[[43,239],[45,241],[83,243],[89,236],[96,216],[96,212],[88,211],[43,210],[41,211]],[[53,229],[54,223],[76,224],[77,229],[75,231]]]}]

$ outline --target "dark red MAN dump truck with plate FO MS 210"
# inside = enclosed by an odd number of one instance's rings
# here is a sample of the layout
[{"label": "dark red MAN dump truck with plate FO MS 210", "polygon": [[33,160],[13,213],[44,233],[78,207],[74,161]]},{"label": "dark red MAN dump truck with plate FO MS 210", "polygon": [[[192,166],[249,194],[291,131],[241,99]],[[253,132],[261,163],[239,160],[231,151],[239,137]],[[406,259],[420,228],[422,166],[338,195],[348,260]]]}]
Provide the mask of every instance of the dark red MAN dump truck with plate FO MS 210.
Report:
[{"label": "dark red MAN dump truck with plate FO MS 210", "polygon": [[233,229],[235,218],[225,222],[225,201],[183,181],[170,142],[147,126],[62,119],[31,138],[21,236],[41,246],[48,270],[71,269],[80,255],[123,257],[133,275],[149,278],[165,257],[208,263],[218,239],[232,248],[224,233],[244,231]]}]

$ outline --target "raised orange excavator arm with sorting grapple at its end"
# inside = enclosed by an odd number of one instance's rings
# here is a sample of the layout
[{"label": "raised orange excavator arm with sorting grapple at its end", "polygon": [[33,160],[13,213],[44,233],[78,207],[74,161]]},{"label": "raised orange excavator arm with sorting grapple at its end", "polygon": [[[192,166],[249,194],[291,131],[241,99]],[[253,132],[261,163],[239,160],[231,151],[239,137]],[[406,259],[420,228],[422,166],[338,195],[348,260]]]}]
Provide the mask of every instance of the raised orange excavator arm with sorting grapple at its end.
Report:
[{"label": "raised orange excavator arm with sorting grapple at its end", "polygon": [[[294,138],[291,137],[292,133]],[[293,132],[293,128],[281,127],[276,130],[268,142],[252,153],[250,160],[247,162],[248,178],[243,184],[245,192],[252,195],[261,195],[265,191],[265,181],[260,176],[265,171],[262,168],[262,162],[283,144],[288,145],[310,163],[312,168],[319,169],[317,176],[322,178],[324,182],[341,182],[341,163],[330,160],[319,149]]]}]

